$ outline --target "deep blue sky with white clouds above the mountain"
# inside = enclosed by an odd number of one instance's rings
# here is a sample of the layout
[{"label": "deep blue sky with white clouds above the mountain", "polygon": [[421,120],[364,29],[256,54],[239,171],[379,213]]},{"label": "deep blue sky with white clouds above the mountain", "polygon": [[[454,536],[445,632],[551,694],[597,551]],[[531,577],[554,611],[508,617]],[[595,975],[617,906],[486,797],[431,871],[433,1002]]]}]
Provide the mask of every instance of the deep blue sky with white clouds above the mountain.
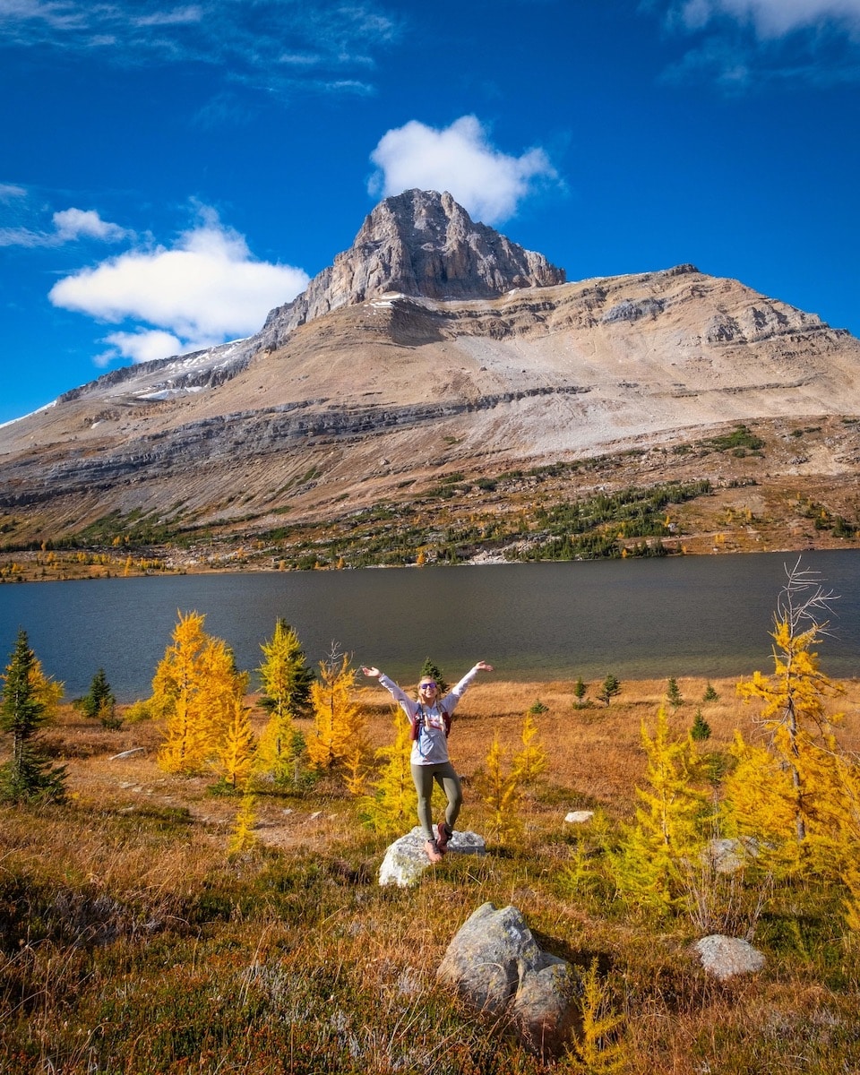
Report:
[{"label": "deep blue sky with white clouds above the mountain", "polygon": [[860,335],[860,0],[0,0],[0,422],[256,331],[379,198]]}]

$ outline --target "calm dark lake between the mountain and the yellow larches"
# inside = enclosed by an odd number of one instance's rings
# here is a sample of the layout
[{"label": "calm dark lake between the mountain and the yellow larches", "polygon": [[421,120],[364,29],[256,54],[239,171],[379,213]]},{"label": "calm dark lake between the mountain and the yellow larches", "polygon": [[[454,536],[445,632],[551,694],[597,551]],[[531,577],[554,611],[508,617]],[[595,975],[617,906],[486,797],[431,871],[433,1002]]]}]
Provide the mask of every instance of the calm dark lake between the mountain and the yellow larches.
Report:
[{"label": "calm dark lake between the mountain and the yellow larches", "polygon": [[[314,664],[332,642],[413,682],[426,657],[456,679],[477,660],[549,680],[770,672],[776,599],[797,554],[662,560],[105,578],[0,586],[0,659],[23,627],[45,671],[85,693],[99,668],[120,701],[149,694],[182,611],[205,614],[242,669],[283,616]],[[860,551],[807,553],[838,599],[820,647],[860,675]]]}]

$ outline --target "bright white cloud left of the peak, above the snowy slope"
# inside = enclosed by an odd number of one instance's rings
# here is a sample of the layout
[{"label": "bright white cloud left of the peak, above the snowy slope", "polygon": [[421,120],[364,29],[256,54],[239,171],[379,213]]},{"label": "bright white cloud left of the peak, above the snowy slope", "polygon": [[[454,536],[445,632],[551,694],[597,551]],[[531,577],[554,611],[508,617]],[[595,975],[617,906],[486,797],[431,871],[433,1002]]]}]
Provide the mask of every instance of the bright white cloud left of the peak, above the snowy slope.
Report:
[{"label": "bright white cloud left of the peak, above the snowy slope", "polygon": [[138,322],[108,342],[113,357],[145,361],[250,335],[307,278],[301,269],[255,261],[244,238],[210,211],[175,246],[110,258],[59,281],[48,297],[103,321]]}]

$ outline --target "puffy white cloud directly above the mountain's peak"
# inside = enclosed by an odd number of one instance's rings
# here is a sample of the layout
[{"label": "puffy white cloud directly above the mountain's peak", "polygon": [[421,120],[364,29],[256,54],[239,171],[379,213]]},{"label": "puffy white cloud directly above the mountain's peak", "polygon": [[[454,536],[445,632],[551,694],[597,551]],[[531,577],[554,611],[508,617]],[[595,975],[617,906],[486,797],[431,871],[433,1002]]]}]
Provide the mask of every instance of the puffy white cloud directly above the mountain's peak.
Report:
[{"label": "puffy white cloud directly above the mountain's peak", "polygon": [[536,181],[557,177],[543,149],[520,157],[496,149],[475,116],[461,116],[441,130],[413,119],[384,134],[371,160],[378,169],[371,194],[447,190],[486,224],[508,219]]}]

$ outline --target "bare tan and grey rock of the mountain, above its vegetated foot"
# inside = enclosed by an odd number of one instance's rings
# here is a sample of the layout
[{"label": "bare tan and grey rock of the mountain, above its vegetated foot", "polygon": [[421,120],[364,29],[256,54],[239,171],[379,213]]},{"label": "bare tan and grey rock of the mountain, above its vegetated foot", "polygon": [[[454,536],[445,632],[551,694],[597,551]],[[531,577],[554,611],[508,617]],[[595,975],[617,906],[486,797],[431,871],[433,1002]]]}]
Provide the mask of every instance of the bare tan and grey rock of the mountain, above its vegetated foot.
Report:
[{"label": "bare tan and grey rock of the mountain, above its vegetated foot", "polygon": [[[255,336],[113,371],[0,429],[0,525],[5,517],[24,542],[113,513],[214,526],[239,541],[283,513],[324,524],[346,507],[405,500],[403,489],[445,473],[471,478],[474,491],[504,470],[659,449],[654,473],[664,476],[669,463],[689,470],[673,453],[708,431],[766,422],[792,448],[792,422],[860,415],[860,343],[815,314],[692,264],[561,283],[540,255],[490,242],[491,229],[471,225],[449,196],[406,195],[369,215],[340,276],[319,274],[311,299],[277,307]],[[421,260],[426,229],[406,242],[403,228],[428,206],[438,242]],[[373,234],[390,240],[385,258],[368,255]],[[446,280],[433,277],[436,291],[456,278],[469,297],[390,290],[398,281],[430,290],[421,273],[446,243],[457,254]],[[481,250],[476,274],[464,246]],[[529,286],[507,286],[524,268]],[[324,292],[331,309],[309,316]],[[756,481],[826,474],[845,508],[857,427],[828,430],[829,444],[805,460],[772,453]],[[725,458],[712,462],[708,478],[732,481]],[[624,468],[625,479],[649,473]],[[619,477],[616,468],[604,484]]]}]

